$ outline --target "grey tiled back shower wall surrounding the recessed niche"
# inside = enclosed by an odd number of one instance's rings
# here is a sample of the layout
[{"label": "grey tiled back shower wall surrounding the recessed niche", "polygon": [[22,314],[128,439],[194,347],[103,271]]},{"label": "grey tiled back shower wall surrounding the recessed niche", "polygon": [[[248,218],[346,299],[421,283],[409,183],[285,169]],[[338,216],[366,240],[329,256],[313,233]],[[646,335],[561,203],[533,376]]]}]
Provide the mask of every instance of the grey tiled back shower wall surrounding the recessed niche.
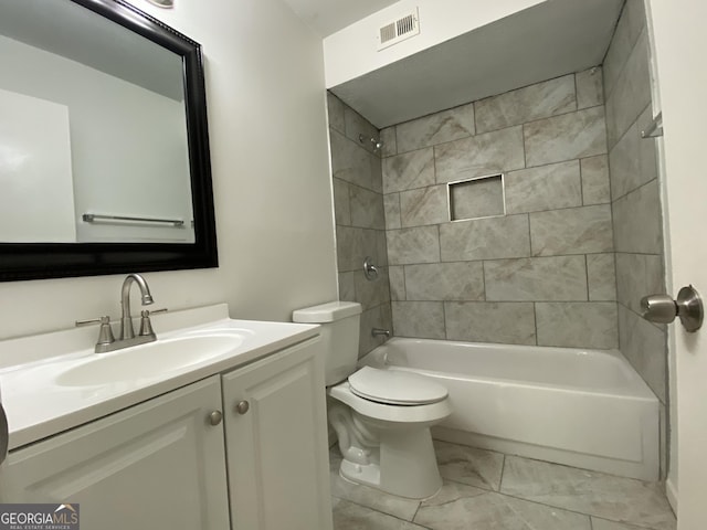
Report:
[{"label": "grey tiled back shower wall surrounding the recessed niche", "polygon": [[[619,344],[602,70],[382,131],[397,336]],[[450,181],[502,172],[506,215],[450,222]]]}]

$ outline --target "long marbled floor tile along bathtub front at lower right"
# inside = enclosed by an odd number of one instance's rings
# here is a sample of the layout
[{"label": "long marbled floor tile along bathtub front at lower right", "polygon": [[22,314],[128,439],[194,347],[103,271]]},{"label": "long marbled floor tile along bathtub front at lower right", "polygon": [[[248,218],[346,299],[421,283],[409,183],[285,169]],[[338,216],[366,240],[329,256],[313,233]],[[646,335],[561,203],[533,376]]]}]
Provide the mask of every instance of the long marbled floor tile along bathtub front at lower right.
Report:
[{"label": "long marbled floor tile along bathtub front at lower right", "polygon": [[507,456],[502,492],[613,521],[675,528],[658,484]]}]

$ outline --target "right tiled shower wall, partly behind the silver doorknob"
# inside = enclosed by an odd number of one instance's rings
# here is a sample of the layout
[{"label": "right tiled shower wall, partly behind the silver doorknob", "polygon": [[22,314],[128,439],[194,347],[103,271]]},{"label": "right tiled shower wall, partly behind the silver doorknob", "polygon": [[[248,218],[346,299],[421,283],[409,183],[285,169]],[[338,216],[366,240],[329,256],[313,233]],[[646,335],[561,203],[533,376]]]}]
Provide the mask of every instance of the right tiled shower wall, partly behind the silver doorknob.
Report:
[{"label": "right tiled shower wall, partly behind the silver doorknob", "polygon": [[629,0],[604,61],[619,342],[665,404],[666,329],[639,315],[641,297],[665,293],[656,145],[641,138],[653,117],[648,53],[643,0]]}]

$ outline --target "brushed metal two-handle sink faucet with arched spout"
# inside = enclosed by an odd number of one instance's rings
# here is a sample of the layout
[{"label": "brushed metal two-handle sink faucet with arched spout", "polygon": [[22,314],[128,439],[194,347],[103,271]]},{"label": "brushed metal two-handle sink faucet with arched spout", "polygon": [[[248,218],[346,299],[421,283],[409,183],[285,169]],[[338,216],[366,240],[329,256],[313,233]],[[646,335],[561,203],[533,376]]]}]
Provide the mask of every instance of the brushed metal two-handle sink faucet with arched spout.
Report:
[{"label": "brushed metal two-handle sink faucet with arched spout", "polygon": [[152,300],[150,288],[147,286],[147,282],[139,274],[128,274],[123,282],[123,288],[120,289],[120,336],[116,340],[113,336],[113,329],[110,327],[110,317],[94,318],[92,320],[77,320],[76,326],[85,326],[88,324],[101,324],[101,330],[98,332],[98,341],[96,342],[96,353],[106,353],[108,351],[120,350],[130,346],[144,344],[146,342],[152,342],[157,340],[152,325],[150,322],[150,314],[165,312],[167,309],[158,309],[156,311],[144,310],[140,320],[140,331],[135,335],[135,328],[133,327],[133,316],[130,315],[130,287],[133,284],[137,284],[140,288],[140,296],[144,306],[149,306]]}]

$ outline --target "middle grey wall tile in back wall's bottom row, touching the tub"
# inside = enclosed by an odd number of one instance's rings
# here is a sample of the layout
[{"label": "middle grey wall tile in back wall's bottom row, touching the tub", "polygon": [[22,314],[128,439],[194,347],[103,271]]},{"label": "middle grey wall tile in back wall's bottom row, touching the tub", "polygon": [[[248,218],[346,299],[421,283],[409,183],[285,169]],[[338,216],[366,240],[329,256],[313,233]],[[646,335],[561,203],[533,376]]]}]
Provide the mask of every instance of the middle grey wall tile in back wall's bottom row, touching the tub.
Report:
[{"label": "middle grey wall tile in back wall's bottom row, touching the tub", "polygon": [[531,303],[446,301],[444,312],[449,340],[536,343]]}]

